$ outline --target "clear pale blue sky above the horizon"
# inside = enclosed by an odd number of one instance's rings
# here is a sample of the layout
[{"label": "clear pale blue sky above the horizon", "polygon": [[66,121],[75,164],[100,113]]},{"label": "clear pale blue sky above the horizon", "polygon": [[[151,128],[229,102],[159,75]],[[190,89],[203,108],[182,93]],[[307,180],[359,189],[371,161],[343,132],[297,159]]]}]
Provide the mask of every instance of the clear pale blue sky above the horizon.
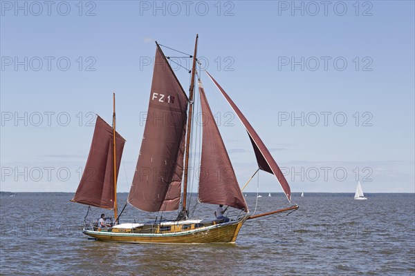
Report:
[{"label": "clear pale blue sky above the horizon", "polygon": [[[89,121],[111,121],[116,92],[127,192],[154,41],[192,52],[199,33],[203,67],[291,190],[353,193],[360,180],[367,193],[415,192],[413,1],[1,1],[0,30],[1,190],[75,192]],[[176,73],[187,91],[187,72]],[[242,186],[256,169],[250,141],[202,81]],[[259,190],[282,191],[265,172]]]}]

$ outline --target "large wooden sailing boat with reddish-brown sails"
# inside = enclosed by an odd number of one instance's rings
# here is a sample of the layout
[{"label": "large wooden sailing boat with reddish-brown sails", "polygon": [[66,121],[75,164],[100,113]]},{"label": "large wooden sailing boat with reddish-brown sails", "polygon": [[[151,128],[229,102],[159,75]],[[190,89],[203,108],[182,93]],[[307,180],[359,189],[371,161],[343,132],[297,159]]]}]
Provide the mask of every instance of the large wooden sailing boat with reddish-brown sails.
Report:
[{"label": "large wooden sailing boat with reddish-brown sails", "polygon": [[[194,55],[190,56],[193,62],[190,71],[189,96],[187,96],[170,67],[161,45],[156,42],[148,119],[127,199],[131,206],[148,213],[154,213],[156,219],[120,223],[120,216],[124,209],[118,214],[116,182],[125,140],[115,130],[114,100],[113,127],[111,128],[98,117],[86,169],[72,201],[112,209],[115,221],[108,227],[100,227],[96,221],[85,220],[82,230],[85,235],[107,242],[234,243],[241,226],[246,221],[297,210],[298,205],[291,204],[287,208],[272,210],[268,213],[250,214],[219,128],[216,126],[212,110],[210,110],[201,77],[197,74],[197,43],[198,36],[196,35]],[[290,186],[269,150],[225,90],[212,75],[208,72],[207,74],[248,132],[258,164],[258,168],[250,179],[259,170],[275,175],[288,202],[291,203]],[[201,219],[192,217],[193,214],[190,212],[190,193],[187,190],[189,187],[190,143],[192,141],[190,138],[196,75],[201,111],[205,115],[202,117],[203,134],[198,202],[228,206],[225,208],[225,210],[230,208],[225,214],[227,219]],[[218,171],[222,177],[217,177]],[[178,212],[177,217],[174,216],[176,219],[162,219],[170,211]]]}]

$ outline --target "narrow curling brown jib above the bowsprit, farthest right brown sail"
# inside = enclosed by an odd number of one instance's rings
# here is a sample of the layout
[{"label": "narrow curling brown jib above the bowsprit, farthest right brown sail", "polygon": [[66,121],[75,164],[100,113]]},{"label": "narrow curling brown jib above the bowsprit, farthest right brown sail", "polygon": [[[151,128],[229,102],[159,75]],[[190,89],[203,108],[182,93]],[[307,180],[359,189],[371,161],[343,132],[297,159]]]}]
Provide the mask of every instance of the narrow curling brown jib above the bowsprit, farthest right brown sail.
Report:
[{"label": "narrow curling brown jib above the bowsprit, farthest right brown sail", "polygon": [[248,132],[248,135],[249,135],[250,140],[252,142],[252,146],[253,146],[254,151],[255,151],[255,157],[257,157],[257,162],[258,162],[259,168],[261,170],[265,170],[266,172],[270,172],[273,175],[275,175],[275,177],[277,177],[277,179],[279,181],[279,184],[282,186],[282,189],[284,190],[284,193],[285,193],[288,201],[291,201],[290,186],[288,185],[288,182],[287,182],[286,178],[282,174],[282,171],[279,169],[279,166],[277,165],[277,162],[275,162],[273,156],[270,154],[268,148],[266,148],[266,146],[264,145],[264,142],[257,135],[257,132],[254,130],[254,128],[252,128],[252,126],[250,125],[250,123],[246,119],[246,117],[243,116],[241,110],[239,110],[237,105],[232,101],[232,99],[230,99],[228,94],[226,94],[225,90],[223,90],[223,88],[221,88],[219,83],[217,83],[214,80],[214,78],[208,72],[206,72],[206,73],[208,74],[210,79],[212,79],[212,81],[214,82],[216,87],[219,89],[219,91],[222,93],[223,97],[225,97],[226,101],[228,101],[228,103],[230,104],[230,106],[232,107],[234,112],[237,114],[237,116],[241,120],[243,126],[245,126],[246,131]]}]

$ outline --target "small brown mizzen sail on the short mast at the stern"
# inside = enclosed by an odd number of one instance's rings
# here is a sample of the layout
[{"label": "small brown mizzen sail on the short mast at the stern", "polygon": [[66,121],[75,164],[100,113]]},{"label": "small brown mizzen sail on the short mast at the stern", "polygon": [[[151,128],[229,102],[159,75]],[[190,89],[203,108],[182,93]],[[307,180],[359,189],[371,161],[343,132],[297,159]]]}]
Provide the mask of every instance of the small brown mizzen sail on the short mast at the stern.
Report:
[{"label": "small brown mizzen sail on the short mast at the stern", "polygon": [[[116,132],[117,175],[124,143],[124,138]],[[113,129],[98,116],[80,185],[71,201],[113,209],[115,196],[113,171]]]}]

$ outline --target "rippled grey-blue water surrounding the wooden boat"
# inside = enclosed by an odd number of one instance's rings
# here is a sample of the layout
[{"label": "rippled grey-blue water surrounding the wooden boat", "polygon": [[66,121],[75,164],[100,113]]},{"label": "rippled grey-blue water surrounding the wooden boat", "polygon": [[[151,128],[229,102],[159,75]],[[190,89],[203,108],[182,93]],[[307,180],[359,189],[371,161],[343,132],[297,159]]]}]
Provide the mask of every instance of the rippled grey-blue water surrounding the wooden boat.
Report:
[{"label": "rippled grey-blue water surrounding the wooden boat", "polygon": [[[258,199],[257,213],[287,206]],[[86,207],[68,193],[1,196],[1,274],[8,275],[414,275],[414,194],[293,195],[291,215],[247,221],[237,244],[116,244],[80,231]],[[119,196],[125,202],[127,195]],[[251,213],[255,195],[247,197]],[[121,206],[122,207],[122,206]],[[198,205],[210,216],[214,206]],[[91,210],[98,217],[102,210]],[[106,214],[109,212],[105,212]],[[128,206],[124,219],[142,213]]]}]

